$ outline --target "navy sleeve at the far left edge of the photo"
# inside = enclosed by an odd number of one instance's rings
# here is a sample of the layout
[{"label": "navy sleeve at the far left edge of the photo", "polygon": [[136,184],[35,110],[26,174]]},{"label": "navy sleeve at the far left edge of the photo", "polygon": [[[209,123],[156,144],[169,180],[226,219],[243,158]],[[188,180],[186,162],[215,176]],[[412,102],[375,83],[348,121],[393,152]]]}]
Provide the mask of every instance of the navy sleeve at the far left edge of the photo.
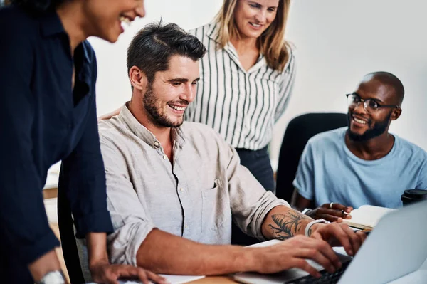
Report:
[{"label": "navy sleeve at the far left edge of the photo", "polygon": [[[0,21],[6,23],[11,22]],[[14,25],[0,28],[0,38],[0,230],[14,243],[16,256],[28,264],[59,246],[59,241],[48,225],[44,180],[33,158],[31,38]]]}]

